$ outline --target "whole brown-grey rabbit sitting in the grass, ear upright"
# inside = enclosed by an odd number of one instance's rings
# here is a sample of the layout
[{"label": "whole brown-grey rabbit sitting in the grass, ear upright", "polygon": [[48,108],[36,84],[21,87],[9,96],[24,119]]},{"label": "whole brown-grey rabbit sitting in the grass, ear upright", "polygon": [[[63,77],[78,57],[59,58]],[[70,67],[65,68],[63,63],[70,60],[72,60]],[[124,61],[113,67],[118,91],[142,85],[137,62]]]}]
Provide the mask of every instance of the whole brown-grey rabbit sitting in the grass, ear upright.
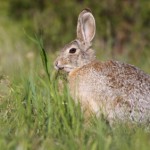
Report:
[{"label": "whole brown-grey rabbit sitting in the grass, ear upright", "polygon": [[92,12],[78,17],[77,38],[62,48],[54,66],[67,72],[69,91],[85,114],[103,115],[110,124],[150,123],[150,75],[133,65],[96,59]]}]

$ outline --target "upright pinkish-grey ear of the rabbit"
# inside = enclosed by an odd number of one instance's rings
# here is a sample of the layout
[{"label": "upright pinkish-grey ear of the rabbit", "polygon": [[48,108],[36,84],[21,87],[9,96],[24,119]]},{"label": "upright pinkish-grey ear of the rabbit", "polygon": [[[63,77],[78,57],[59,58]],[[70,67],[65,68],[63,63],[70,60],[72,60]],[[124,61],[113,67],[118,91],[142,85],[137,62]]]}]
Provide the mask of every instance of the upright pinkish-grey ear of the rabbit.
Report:
[{"label": "upright pinkish-grey ear of the rabbit", "polygon": [[95,19],[88,9],[84,9],[78,17],[77,38],[90,43],[95,36]]}]

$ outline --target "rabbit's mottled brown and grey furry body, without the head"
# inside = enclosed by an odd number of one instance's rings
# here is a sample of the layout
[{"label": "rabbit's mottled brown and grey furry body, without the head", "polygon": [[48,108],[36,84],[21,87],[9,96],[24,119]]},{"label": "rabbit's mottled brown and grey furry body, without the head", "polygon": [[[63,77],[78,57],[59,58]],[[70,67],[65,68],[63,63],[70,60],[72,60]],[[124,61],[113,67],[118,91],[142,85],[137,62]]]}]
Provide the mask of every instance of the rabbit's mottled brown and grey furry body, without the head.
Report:
[{"label": "rabbit's mottled brown and grey furry body, without the head", "polygon": [[150,76],[138,68],[93,61],[69,74],[71,94],[83,108],[108,119],[150,121]]}]

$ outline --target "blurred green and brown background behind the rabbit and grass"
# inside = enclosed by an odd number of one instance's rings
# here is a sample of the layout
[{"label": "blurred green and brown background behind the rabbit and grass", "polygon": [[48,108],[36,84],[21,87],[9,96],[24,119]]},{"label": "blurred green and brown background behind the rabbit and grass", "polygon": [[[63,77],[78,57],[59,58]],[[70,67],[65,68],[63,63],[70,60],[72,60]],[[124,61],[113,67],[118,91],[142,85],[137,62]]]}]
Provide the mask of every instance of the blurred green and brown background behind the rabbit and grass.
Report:
[{"label": "blurred green and brown background behind the rabbit and grass", "polygon": [[117,58],[150,72],[148,0],[0,0],[0,73],[34,60],[37,47],[26,34],[42,36],[50,56],[60,50],[76,37],[78,14],[87,7],[96,19],[98,57]]}]

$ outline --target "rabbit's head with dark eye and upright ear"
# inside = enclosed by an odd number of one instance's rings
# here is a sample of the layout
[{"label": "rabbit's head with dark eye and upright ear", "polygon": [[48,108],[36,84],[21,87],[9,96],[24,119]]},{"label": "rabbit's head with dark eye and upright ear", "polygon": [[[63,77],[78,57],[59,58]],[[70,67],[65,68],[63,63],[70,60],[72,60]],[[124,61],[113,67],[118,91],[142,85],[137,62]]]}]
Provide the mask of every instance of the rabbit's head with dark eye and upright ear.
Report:
[{"label": "rabbit's head with dark eye and upright ear", "polygon": [[55,61],[55,68],[70,72],[93,61],[95,52],[91,46],[95,29],[95,19],[91,11],[84,9],[78,17],[77,38],[61,50]]}]

